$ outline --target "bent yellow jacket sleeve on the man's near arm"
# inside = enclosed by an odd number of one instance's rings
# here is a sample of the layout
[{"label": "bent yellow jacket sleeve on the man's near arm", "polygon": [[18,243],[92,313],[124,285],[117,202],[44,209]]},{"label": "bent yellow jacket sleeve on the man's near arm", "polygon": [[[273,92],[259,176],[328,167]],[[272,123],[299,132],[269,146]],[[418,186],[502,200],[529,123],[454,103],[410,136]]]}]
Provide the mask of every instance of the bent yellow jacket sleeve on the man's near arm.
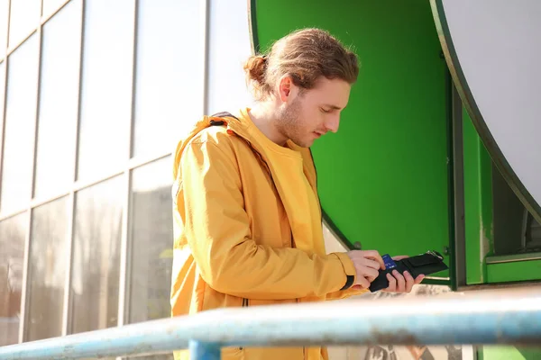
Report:
[{"label": "bent yellow jacket sleeve on the man's near arm", "polygon": [[339,291],[348,280],[340,254],[308,255],[251,238],[234,158],[232,148],[206,140],[188,144],[179,161],[179,212],[203,280],[220,293],[261,300]]}]

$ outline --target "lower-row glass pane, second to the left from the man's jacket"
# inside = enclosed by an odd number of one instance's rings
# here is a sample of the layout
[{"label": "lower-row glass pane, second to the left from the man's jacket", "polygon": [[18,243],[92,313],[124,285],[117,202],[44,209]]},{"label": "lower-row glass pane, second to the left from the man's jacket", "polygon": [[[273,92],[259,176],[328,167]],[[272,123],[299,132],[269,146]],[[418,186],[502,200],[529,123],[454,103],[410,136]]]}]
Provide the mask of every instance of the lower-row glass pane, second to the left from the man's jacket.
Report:
[{"label": "lower-row glass pane, second to the left from the man's jacket", "polygon": [[118,323],[122,176],[80,191],[76,197],[72,255],[70,332]]}]

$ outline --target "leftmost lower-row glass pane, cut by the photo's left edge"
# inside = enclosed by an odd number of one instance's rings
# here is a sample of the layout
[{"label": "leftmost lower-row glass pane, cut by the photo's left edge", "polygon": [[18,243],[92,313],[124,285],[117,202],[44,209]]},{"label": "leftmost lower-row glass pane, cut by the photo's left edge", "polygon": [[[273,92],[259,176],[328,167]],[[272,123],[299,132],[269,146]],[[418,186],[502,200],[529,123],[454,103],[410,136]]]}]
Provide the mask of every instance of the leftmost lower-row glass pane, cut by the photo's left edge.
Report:
[{"label": "leftmost lower-row glass pane, cut by the photo's left edge", "polygon": [[19,342],[26,216],[0,222],[0,347]]}]

